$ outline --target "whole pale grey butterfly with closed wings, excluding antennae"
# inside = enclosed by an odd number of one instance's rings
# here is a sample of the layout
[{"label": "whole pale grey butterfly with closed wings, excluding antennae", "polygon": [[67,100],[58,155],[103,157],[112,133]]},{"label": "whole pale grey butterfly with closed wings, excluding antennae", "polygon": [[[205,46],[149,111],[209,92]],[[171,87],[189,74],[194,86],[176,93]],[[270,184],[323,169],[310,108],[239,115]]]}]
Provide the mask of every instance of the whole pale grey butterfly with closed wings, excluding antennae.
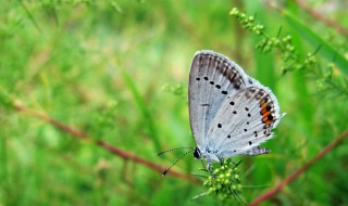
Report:
[{"label": "whole pale grey butterfly with closed wings, excluding antennae", "polygon": [[239,65],[213,51],[197,52],[188,95],[195,157],[211,163],[270,152],[260,144],[273,137],[284,114],[273,92]]}]

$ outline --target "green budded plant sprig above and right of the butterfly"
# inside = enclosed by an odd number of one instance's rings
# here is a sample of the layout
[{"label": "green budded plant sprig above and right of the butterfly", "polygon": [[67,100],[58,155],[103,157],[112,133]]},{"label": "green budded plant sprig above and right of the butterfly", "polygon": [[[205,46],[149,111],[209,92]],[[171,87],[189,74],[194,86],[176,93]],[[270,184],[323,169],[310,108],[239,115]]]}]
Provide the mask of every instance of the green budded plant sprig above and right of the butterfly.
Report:
[{"label": "green budded plant sprig above and right of the butterfly", "polygon": [[290,35],[279,37],[281,33],[278,33],[277,36],[273,37],[266,34],[265,26],[258,24],[253,16],[248,16],[246,13],[240,12],[237,8],[233,8],[229,14],[236,17],[243,28],[262,37],[261,41],[256,46],[256,48],[262,53],[269,53],[273,50],[277,50],[279,52],[283,61],[283,75],[289,70],[304,70],[312,74],[314,78],[316,78],[319,92],[332,91],[332,93],[336,93],[338,95],[348,95],[347,77],[339,74],[333,78],[332,74],[335,69],[333,63],[325,65],[326,72],[322,72],[322,69],[320,69],[320,64],[315,56],[315,53],[320,48],[316,51],[309,52],[307,55],[302,56],[298,54],[296,47],[291,42]]}]

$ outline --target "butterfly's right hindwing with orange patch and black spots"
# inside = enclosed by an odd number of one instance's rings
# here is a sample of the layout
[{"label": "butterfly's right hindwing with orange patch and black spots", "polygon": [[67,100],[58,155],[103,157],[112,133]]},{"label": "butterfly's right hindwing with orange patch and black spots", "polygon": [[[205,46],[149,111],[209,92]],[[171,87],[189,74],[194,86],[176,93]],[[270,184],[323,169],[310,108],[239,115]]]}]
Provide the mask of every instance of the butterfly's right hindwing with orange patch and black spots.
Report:
[{"label": "butterfly's right hindwing with orange patch and black spots", "polygon": [[208,132],[208,145],[219,158],[269,153],[260,144],[272,138],[284,114],[272,91],[250,78],[248,86],[226,100]]}]

